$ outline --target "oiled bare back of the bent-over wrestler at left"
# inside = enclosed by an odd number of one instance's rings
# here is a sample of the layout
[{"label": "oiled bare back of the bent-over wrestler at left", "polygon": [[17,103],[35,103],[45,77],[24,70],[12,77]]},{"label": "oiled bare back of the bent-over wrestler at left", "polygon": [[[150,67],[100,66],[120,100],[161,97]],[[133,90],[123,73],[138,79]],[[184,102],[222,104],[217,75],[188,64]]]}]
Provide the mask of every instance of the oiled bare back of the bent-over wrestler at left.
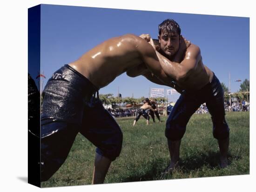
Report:
[{"label": "oiled bare back of the bent-over wrestler at left", "polygon": [[158,62],[151,45],[138,36],[127,34],[104,41],[69,65],[97,88],[102,88],[129,68],[143,63],[142,55],[144,59],[149,55]]}]

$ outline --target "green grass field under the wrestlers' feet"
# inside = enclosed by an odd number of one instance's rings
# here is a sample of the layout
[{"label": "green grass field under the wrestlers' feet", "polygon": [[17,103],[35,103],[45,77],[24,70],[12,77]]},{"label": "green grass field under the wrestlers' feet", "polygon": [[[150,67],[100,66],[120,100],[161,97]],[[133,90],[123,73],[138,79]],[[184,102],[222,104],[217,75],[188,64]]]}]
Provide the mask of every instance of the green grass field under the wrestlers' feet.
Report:
[{"label": "green grass field under the wrestlers' feet", "polygon": [[[120,156],[111,164],[105,183],[198,178],[249,174],[249,112],[230,112],[226,119],[230,128],[229,166],[219,167],[217,141],[212,136],[209,114],[193,115],[182,139],[180,167],[162,174],[169,164],[165,121],[156,123],[141,119],[132,127],[133,118],[117,119],[123,132]],[[91,184],[95,147],[78,134],[67,160],[42,187]]]}]

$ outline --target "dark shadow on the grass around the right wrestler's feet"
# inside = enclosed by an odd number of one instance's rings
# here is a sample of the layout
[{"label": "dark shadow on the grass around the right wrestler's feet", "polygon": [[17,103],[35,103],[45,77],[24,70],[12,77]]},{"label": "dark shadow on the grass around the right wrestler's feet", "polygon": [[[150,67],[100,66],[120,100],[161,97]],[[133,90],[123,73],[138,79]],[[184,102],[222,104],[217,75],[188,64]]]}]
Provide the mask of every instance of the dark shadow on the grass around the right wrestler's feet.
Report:
[{"label": "dark shadow on the grass around the right wrestler's feet", "polygon": [[[239,159],[242,159],[242,157],[228,154],[229,165],[233,160]],[[219,152],[208,151],[205,154],[196,154],[184,160],[181,159],[180,167],[175,172],[187,174],[191,171],[200,170],[203,166],[209,169],[221,169],[219,166]],[[147,167],[147,171],[145,171],[145,167]],[[136,169],[129,171],[128,177],[126,175],[126,177],[124,176],[120,179],[121,182],[173,179],[172,173],[164,173],[167,167],[166,160],[161,158],[155,159],[152,162],[136,167]]]}]

